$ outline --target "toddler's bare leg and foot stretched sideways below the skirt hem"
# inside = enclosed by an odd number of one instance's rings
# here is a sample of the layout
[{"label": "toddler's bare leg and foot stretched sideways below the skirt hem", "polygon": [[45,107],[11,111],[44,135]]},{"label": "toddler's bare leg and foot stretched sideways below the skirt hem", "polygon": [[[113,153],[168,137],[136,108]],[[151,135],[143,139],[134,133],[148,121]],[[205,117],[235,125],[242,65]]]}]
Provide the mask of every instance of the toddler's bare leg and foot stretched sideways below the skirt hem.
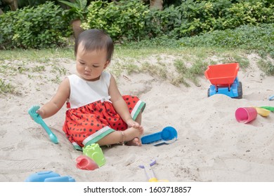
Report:
[{"label": "toddler's bare leg and foot stretched sideways below the skirt hem", "polygon": [[[107,134],[105,137],[97,141],[100,146],[110,145],[110,144],[119,144],[123,141],[133,141],[135,138],[141,137],[143,134],[143,127],[134,128],[130,127],[124,131],[116,131]],[[138,145],[140,146],[140,145]]]}]

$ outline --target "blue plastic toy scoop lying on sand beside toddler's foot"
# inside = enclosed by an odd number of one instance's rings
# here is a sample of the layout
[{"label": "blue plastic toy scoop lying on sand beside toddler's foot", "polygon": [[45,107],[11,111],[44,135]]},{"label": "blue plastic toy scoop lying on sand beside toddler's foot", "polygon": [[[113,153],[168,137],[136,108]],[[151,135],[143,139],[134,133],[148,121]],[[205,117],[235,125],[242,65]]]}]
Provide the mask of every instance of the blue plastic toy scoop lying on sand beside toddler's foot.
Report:
[{"label": "blue plastic toy scoop lying on sand beside toddler's foot", "polygon": [[165,127],[162,132],[148,134],[141,137],[142,144],[152,144],[158,146],[161,144],[171,144],[177,140],[177,131],[174,127]]}]

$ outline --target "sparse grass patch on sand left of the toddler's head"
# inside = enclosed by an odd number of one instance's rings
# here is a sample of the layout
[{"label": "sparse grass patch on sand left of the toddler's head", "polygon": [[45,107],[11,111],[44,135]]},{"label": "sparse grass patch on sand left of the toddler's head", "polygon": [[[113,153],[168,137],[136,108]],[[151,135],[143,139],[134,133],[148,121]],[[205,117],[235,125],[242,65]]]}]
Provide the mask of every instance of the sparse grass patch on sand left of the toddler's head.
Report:
[{"label": "sparse grass patch on sand left of the toddler's head", "polygon": [[60,58],[74,58],[73,49],[0,50],[0,94],[20,94],[16,76],[26,74],[27,78],[40,80],[46,77],[43,73],[47,69],[53,73],[48,81],[60,83],[60,76],[67,74],[64,67],[58,66]]}]

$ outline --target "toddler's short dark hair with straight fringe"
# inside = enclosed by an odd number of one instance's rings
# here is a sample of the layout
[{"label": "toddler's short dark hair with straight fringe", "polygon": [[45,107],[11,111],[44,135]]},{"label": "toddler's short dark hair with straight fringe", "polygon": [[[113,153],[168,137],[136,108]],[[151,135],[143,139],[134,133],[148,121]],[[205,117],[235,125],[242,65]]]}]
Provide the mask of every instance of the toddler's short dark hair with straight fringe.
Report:
[{"label": "toddler's short dark hair with straight fringe", "polygon": [[114,45],[112,38],[105,31],[100,29],[88,29],[81,34],[75,40],[74,55],[77,55],[79,44],[83,44],[84,50],[107,50],[107,60],[111,60]]}]

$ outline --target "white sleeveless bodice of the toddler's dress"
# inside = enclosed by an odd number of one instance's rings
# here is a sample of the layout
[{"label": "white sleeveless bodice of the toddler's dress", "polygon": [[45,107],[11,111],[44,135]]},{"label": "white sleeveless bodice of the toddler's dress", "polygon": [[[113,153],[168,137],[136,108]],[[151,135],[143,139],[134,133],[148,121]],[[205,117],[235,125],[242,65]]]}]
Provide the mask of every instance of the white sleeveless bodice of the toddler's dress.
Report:
[{"label": "white sleeveless bodice of the toddler's dress", "polygon": [[70,80],[70,108],[77,109],[98,100],[110,102],[108,87],[110,87],[110,73],[103,71],[99,80],[86,81],[73,74],[67,76]]}]

